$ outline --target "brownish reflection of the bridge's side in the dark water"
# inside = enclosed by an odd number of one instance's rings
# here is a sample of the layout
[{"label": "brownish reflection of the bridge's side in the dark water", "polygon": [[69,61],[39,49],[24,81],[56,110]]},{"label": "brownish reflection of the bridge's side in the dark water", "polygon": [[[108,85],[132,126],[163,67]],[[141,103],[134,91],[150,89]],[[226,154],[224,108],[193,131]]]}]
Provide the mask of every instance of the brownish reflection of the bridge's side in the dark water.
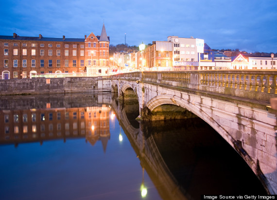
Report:
[{"label": "brownish reflection of the bridge's side in the dark water", "polygon": [[146,170],[152,182],[156,185],[161,197],[168,200],[190,199],[189,197],[184,197],[184,192],[179,188],[174,176],[163,161],[153,136],[146,139],[141,128],[132,127],[121,103],[117,105],[114,100],[112,107],[143,169]]}]

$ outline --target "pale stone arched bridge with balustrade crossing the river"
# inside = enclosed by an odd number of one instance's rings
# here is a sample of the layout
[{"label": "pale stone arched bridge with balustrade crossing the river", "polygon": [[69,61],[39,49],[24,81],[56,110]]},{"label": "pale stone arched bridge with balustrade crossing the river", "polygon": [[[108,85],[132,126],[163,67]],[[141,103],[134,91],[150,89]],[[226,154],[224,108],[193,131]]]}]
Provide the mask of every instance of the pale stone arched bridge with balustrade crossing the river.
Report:
[{"label": "pale stone arched bridge with balustrade crossing the river", "polygon": [[200,117],[277,194],[276,71],[136,72],[112,76],[120,98],[136,97],[139,119]]}]

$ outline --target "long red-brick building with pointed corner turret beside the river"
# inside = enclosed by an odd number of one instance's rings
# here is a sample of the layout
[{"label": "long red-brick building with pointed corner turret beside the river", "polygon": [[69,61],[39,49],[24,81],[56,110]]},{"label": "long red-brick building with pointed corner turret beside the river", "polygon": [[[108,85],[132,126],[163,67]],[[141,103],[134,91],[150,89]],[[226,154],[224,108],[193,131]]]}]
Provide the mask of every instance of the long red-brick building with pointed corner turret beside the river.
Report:
[{"label": "long red-brick building with pointed corner turret beside the river", "polygon": [[101,36],[85,38],[0,36],[0,79],[36,78],[61,73],[87,76],[108,72],[109,37],[103,24]]}]

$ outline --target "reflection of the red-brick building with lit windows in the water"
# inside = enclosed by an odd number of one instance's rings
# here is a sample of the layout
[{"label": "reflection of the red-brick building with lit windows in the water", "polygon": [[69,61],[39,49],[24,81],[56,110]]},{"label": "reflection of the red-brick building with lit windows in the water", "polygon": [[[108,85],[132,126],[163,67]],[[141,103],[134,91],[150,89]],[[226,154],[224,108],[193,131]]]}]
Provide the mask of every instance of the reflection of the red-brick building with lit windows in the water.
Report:
[{"label": "reflection of the red-brick building with lit windows in the water", "polygon": [[[110,107],[0,110],[0,144],[85,137],[104,150],[110,138]],[[93,127],[93,128],[92,128]],[[93,130],[92,130],[93,129]],[[95,140],[95,141],[94,141]]]}]

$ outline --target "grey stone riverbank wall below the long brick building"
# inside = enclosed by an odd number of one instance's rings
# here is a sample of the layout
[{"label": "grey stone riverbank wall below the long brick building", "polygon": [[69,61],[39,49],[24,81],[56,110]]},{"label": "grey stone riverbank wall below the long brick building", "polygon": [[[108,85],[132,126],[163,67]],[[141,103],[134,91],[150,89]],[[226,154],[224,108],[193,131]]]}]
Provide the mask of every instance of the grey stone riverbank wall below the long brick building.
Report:
[{"label": "grey stone riverbank wall below the long brick building", "polygon": [[0,95],[111,91],[110,76],[0,80]]}]

